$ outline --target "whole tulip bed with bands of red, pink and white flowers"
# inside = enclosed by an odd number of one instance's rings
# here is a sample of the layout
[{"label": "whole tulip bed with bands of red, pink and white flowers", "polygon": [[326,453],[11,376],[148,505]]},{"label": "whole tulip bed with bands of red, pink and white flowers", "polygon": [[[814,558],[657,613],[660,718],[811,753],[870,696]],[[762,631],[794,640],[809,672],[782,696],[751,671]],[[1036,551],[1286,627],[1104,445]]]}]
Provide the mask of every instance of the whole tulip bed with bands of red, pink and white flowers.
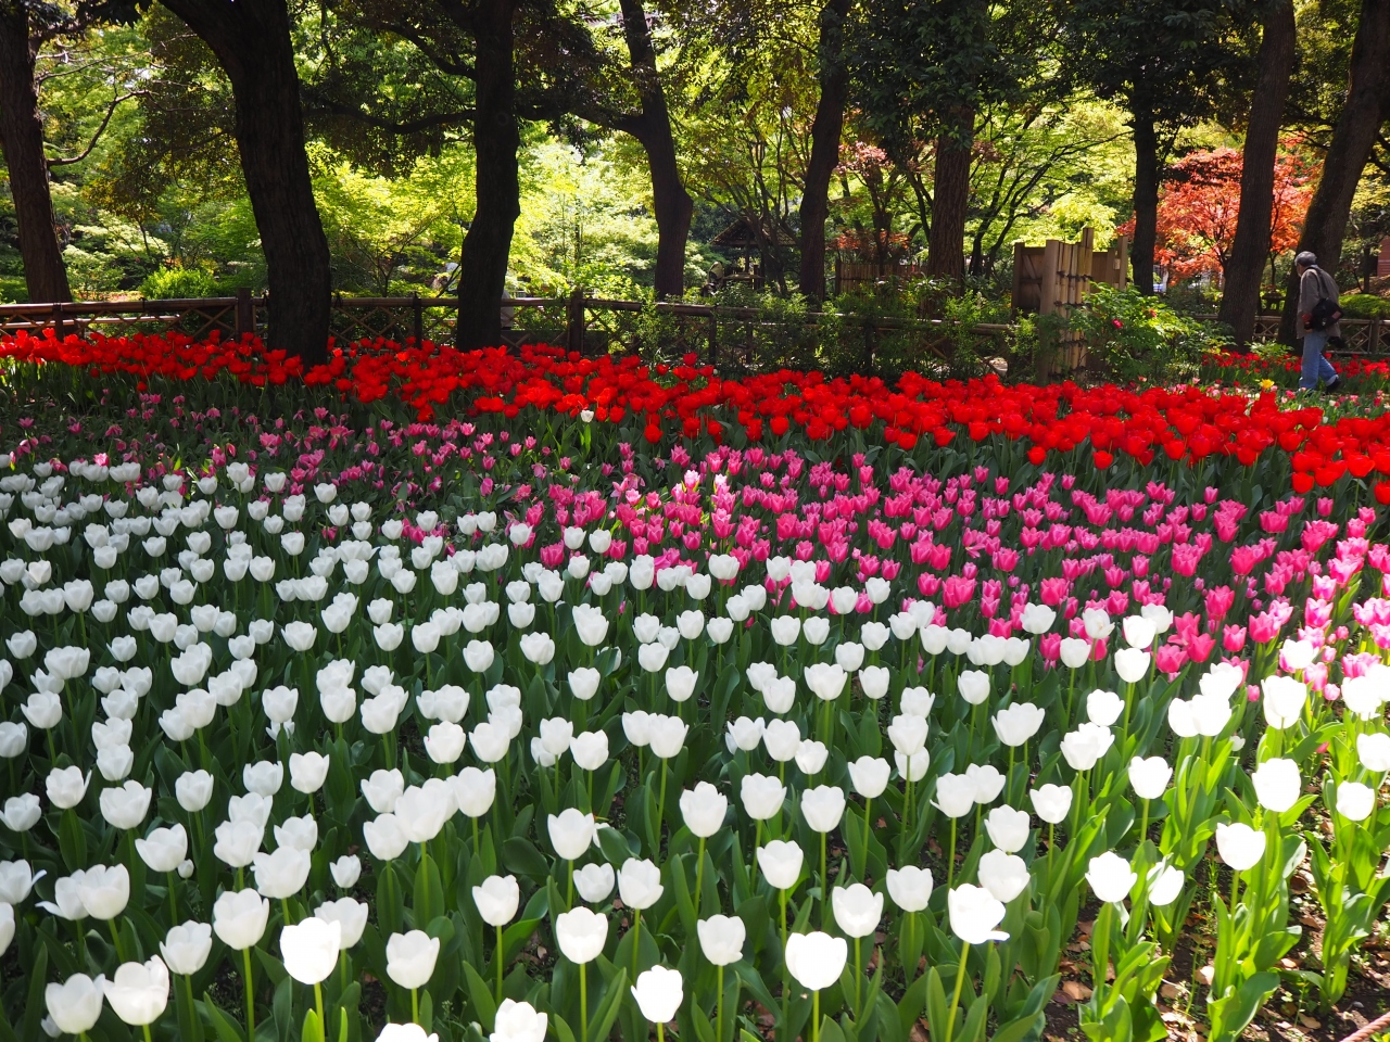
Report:
[{"label": "whole tulip bed with bands of red, pink and white flowers", "polygon": [[537,352],[411,424],[356,357],[17,371],[146,386],[0,429],[0,1038],[1023,1039],[1063,970],[1162,1038],[1200,916],[1211,1038],[1347,988],[1379,418]]}]

